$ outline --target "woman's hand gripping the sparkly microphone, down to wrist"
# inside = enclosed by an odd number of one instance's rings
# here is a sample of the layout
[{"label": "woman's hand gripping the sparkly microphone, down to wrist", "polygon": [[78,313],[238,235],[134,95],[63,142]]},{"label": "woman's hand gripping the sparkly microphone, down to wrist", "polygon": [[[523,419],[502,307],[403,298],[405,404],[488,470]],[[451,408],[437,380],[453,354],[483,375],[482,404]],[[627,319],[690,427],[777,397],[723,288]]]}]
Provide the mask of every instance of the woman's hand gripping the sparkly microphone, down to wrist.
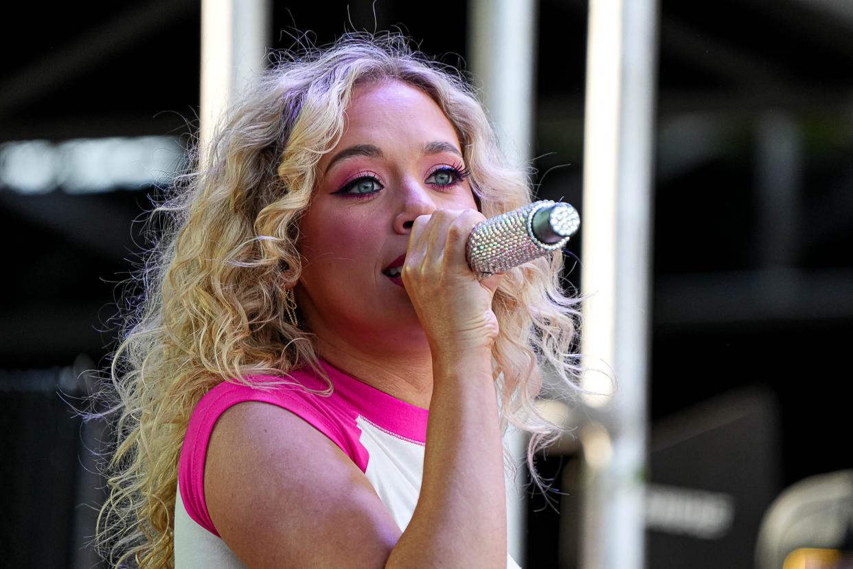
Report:
[{"label": "woman's hand gripping the sparkly microphone, down to wrist", "polygon": [[483,281],[465,248],[485,216],[473,209],[436,210],[415,218],[401,276],[433,356],[491,348],[499,331],[491,301],[503,273]]}]

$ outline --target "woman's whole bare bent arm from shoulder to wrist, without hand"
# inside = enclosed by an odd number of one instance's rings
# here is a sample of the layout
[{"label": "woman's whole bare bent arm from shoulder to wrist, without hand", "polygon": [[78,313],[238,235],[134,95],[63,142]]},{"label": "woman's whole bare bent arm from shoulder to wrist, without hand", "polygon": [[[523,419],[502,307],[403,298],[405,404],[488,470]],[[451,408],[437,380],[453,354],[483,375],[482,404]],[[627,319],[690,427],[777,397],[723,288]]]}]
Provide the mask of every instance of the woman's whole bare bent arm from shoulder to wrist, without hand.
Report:
[{"label": "woman's whole bare bent arm from shoulder to wrist, without hand", "polygon": [[434,361],[421,496],[402,533],[361,470],[296,415],[237,404],[214,427],[207,508],[250,567],[506,565],[488,351]]}]

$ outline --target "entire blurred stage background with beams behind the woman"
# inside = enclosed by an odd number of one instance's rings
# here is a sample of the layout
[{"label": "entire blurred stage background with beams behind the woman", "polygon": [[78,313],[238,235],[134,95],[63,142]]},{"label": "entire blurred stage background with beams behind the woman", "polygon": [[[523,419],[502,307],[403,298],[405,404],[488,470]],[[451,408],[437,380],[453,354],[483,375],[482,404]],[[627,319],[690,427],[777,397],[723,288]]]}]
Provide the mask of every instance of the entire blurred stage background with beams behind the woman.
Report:
[{"label": "entire blurred stage background with beams behind the woman", "polygon": [[[833,379],[853,337],[850,3],[334,4],[62,12],[61,49],[32,44],[4,70],[0,212],[26,270],[0,316],[0,483],[15,489],[0,559],[96,565],[81,545],[99,427],[71,403],[113,340],[111,289],[144,236],[131,220],[183,156],[182,115],[200,107],[204,138],[264,48],[293,44],[291,26],[326,42],[349,18],[465,54],[505,150],[537,166],[538,198],[582,212],[566,280],[595,292],[581,351],[605,380],[584,386],[618,390],[578,404],[548,386],[543,409],[575,430],[537,456],[560,514],[508,486],[522,565],[850,566],[849,404]],[[525,438],[508,442],[520,458]]]}]

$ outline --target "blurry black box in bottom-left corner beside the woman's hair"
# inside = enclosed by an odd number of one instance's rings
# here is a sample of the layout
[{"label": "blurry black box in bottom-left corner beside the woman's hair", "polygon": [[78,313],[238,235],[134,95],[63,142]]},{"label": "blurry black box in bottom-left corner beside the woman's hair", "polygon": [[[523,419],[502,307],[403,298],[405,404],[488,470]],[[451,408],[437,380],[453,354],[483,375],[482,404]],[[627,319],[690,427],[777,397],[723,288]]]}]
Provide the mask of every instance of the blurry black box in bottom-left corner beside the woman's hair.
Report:
[{"label": "blurry black box in bottom-left corner beside the woman's hair", "polygon": [[0,370],[0,560],[7,567],[81,567],[101,562],[87,546],[103,500],[96,456],[102,425],[75,408],[86,393],[73,366]]}]

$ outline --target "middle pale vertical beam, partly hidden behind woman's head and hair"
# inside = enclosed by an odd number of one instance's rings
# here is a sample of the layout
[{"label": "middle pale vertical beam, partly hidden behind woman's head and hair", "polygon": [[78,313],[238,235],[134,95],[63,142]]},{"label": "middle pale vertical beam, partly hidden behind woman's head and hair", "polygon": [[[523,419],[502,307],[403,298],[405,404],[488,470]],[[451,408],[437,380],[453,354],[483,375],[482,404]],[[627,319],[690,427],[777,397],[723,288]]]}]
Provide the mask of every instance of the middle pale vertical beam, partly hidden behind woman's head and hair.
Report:
[{"label": "middle pale vertical beam, partly hidden behind woman's head and hair", "polygon": [[[480,99],[489,110],[503,151],[526,165],[531,158],[537,3],[535,0],[472,0],[468,4],[470,70],[482,82]],[[524,464],[526,433],[511,429],[504,437],[515,462]],[[509,553],[525,557],[525,494],[507,480]]]}]

